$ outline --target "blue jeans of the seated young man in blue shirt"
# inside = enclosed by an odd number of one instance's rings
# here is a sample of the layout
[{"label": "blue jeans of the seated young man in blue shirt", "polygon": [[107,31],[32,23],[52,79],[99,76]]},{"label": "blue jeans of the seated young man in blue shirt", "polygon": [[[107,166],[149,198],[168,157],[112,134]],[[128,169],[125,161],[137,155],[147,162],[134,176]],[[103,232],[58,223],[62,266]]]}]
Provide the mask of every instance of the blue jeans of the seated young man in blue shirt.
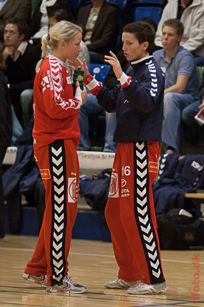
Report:
[{"label": "blue jeans of the seated young man in blue shirt", "polygon": [[179,93],[166,93],[164,96],[162,142],[165,151],[168,147],[172,147],[175,152],[179,152],[182,110],[198,99],[199,97],[190,94]]}]

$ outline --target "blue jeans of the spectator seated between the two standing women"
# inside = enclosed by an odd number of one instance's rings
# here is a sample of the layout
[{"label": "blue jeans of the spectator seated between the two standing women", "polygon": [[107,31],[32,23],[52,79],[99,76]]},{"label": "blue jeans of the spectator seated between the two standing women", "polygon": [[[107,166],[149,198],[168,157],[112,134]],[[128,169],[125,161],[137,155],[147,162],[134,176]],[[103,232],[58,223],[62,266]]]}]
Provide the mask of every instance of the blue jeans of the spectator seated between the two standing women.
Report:
[{"label": "blue jeans of the spectator seated between the two standing women", "polygon": [[[88,94],[87,101],[81,106],[79,111],[79,125],[81,139],[78,150],[90,150],[91,144],[89,139],[89,117],[98,116],[104,112],[97,98],[92,94]],[[117,143],[113,142],[113,134],[116,127],[115,113],[106,113],[106,135],[104,151],[115,152]]]}]

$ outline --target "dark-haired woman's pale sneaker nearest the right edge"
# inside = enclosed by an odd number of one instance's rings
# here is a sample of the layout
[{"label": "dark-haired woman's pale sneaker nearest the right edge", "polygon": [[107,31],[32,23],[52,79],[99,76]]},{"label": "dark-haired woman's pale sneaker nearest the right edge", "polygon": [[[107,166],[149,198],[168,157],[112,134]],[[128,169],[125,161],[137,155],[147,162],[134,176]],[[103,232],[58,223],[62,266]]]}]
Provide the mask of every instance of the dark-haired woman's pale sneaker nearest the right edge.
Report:
[{"label": "dark-haired woman's pale sneaker nearest the right edge", "polygon": [[137,286],[127,289],[130,294],[163,294],[166,292],[166,282],[146,284],[140,282]]}]

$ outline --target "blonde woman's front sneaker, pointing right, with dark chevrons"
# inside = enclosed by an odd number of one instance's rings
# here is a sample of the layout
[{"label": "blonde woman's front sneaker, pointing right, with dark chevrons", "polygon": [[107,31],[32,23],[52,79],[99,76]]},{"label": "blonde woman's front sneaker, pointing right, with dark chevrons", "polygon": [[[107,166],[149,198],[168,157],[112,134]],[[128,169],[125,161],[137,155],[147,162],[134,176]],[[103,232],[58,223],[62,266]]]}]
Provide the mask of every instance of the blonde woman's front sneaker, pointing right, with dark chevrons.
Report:
[{"label": "blonde woman's front sneaker, pointing right, with dark chevrons", "polygon": [[47,292],[65,292],[65,293],[84,293],[87,288],[73,281],[71,277],[66,275],[55,286],[47,286]]}]

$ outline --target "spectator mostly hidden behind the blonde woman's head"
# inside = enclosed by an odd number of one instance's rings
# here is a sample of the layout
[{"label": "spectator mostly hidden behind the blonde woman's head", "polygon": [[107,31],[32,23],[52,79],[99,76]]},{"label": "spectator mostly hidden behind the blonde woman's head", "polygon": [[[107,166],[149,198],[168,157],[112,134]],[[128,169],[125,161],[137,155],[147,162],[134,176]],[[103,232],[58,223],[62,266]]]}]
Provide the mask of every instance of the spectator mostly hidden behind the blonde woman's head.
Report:
[{"label": "spectator mostly hidden behind the blonde woman's head", "polygon": [[[69,11],[66,11],[66,10],[63,10],[63,9],[51,11],[49,13],[49,31],[55,24],[59,23],[59,21],[61,21],[61,20],[67,20],[67,21],[72,22],[73,16]],[[86,44],[84,43],[83,40],[81,41],[80,45],[81,45],[83,50],[82,50],[82,52],[80,52],[78,58],[81,61],[83,61],[83,59],[85,59],[87,66],[89,67],[90,58],[89,58],[88,48],[87,48],[87,46],[86,46]],[[68,67],[67,67],[67,70],[68,70],[69,74],[72,76],[73,71],[71,69],[69,69]]]}]

